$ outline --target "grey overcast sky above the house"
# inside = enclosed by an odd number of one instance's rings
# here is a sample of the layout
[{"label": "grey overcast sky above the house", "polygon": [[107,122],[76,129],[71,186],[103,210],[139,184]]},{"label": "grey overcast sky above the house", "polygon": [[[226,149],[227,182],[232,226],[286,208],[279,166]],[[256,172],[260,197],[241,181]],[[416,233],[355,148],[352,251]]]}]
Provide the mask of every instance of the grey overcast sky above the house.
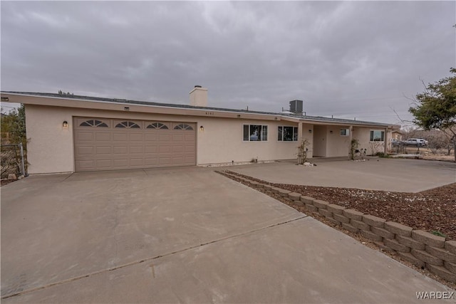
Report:
[{"label": "grey overcast sky above the house", "polygon": [[1,1],[1,90],[397,123],[456,67],[455,1]]}]

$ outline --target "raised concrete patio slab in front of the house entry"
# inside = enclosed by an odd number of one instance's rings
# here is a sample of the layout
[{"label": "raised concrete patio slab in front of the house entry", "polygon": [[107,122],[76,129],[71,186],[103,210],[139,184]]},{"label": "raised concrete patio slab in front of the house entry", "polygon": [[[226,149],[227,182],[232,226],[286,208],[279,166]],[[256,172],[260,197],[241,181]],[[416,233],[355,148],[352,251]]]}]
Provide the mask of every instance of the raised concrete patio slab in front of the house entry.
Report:
[{"label": "raised concrete patio slab in front of the house entry", "polygon": [[421,192],[456,182],[456,164],[452,162],[380,157],[368,157],[365,162],[353,162],[346,157],[310,162],[317,166],[296,166],[296,161],[291,160],[224,169],[273,183],[393,192]]}]

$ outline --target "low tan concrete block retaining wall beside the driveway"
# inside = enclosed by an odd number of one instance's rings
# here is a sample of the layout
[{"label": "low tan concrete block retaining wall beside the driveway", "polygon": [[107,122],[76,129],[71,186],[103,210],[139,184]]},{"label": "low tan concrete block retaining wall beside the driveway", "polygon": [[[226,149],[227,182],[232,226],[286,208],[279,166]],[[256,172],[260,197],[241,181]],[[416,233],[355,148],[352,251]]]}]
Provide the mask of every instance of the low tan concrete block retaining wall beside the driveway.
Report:
[{"label": "low tan concrete block retaining wall beside the driveway", "polygon": [[301,196],[296,192],[271,187],[269,184],[236,178],[246,182],[250,187],[294,201],[298,206],[304,206],[308,211],[324,216],[326,220],[343,229],[361,234],[380,248],[398,253],[403,260],[415,266],[427,268],[436,276],[456,283],[456,241],[447,241],[441,236],[435,236],[423,230],[413,230],[394,221],[386,221],[327,201]]}]

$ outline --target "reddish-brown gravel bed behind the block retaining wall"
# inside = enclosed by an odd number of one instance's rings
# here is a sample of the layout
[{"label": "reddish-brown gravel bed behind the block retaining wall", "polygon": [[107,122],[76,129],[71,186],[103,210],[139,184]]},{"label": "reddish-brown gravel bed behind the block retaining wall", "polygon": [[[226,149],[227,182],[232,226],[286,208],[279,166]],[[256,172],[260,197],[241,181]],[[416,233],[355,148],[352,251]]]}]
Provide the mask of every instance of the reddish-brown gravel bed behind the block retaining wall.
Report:
[{"label": "reddish-brown gravel bed behind the block retaining wall", "polygon": [[405,193],[273,184],[236,172],[229,173],[456,240],[456,183],[418,193]]}]

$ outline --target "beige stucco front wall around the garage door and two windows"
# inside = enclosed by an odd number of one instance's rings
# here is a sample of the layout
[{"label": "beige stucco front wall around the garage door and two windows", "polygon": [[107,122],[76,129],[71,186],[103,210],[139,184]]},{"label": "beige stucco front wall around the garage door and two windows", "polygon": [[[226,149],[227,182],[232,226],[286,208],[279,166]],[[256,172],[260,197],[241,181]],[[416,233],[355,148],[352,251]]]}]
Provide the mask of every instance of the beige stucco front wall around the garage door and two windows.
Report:
[{"label": "beige stucco front wall around the garage door and two windows", "polygon": [[[135,120],[164,120],[197,122],[197,164],[220,162],[248,162],[253,158],[261,160],[296,158],[298,142],[279,142],[279,125],[298,126],[284,121],[243,120],[216,117],[162,115],[141,112],[120,112],[79,108],[56,108],[26,105],[26,127],[28,143],[29,174],[73,172],[73,116],[128,118]],[[62,123],[68,122],[68,129]],[[244,124],[267,125],[267,142],[243,142]],[[199,130],[204,126],[204,131]],[[311,125],[304,125],[303,137],[311,143]],[[311,145],[309,145],[311,157]]]}]

